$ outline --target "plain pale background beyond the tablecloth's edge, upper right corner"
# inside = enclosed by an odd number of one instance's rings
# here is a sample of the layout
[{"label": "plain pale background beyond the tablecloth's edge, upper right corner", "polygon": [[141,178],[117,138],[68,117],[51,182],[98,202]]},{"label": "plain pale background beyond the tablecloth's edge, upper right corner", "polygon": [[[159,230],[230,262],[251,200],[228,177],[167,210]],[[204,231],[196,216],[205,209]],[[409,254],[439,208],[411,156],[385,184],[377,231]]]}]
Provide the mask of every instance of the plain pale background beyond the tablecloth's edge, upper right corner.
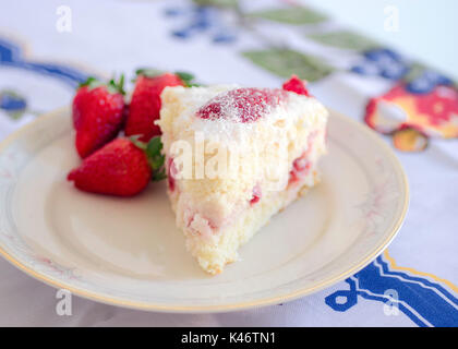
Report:
[{"label": "plain pale background beyond the tablecloth's edge, upper right corner", "polygon": [[[458,77],[458,46],[451,35],[458,32],[455,0],[302,0],[328,12],[337,21],[365,33],[403,53],[421,58],[430,65]],[[386,32],[385,9],[396,7],[399,29]]]}]

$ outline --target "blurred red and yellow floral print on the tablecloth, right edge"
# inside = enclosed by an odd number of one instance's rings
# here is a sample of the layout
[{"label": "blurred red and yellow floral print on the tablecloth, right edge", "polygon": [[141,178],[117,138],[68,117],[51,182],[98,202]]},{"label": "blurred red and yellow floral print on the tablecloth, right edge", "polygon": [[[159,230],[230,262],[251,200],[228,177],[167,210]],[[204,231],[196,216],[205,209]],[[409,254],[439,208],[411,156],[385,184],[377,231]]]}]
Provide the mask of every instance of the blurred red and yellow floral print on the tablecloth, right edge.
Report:
[{"label": "blurred red and yellow floral print on the tablecloth, right edge", "polygon": [[429,137],[458,137],[458,92],[454,86],[437,85],[429,93],[412,94],[400,83],[370,100],[364,121],[391,134],[398,149],[422,151]]}]

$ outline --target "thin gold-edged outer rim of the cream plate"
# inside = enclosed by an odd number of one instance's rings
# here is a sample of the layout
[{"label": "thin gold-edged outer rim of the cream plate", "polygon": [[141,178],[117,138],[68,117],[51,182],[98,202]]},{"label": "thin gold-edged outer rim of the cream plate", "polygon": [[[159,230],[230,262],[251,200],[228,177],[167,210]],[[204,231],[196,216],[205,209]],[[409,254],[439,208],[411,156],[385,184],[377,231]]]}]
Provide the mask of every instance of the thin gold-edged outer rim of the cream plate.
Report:
[{"label": "thin gold-edged outer rim of the cream plate", "polygon": [[[260,306],[267,306],[267,305],[273,305],[273,304],[278,304],[278,303],[290,302],[299,298],[315,293],[327,287],[330,287],[337,284],[338,281],[343,280],[348,276],[354,275],[355,273],[364,268],[367,264],[374,261],[379,254],[382,254],[383,251],[385,251],[385,249],[393,242],[393,240],[396,238],[397,233],[401,229],[405,222],[408,209],[409,209],[410,188],[409,188],[409,182],[408,182],[406,171],[403,170],[403,167],[400,160],[396,156],[395,152],[389,147],[389,145],[377,133],[375,133],[375,131],[365,127],[361,122],[358,122],[357,120],[345,116],[341,112],[338,112],[332,108],[327,108],[327,109],[329,111],[330,118],[338,117],[345,120],[345,122],[351,123],[353,127],[357,128],[358,131],[365,133],[373,142],[375,142],[384,151],[384,153],[389,157],[393,166],[395,166],[398,169],[401,183],[405,190],[405,195],[403,197],[401,197],[401,200],[403,200],[401,214],[396,220],[396,224],[393,225],[393,229],[386,236],[385,240],[378,245],[376,245],[369,255],[360,260],[351,268],[348,268],[347,270],[340,273],[339,275],[324,279],[317,285],[314,285],[312,287],[301,288],[299,290],[294,290],[292,292],[289,292],[282,296],[262,298],[255,301],[238,302],[238,303],[226,304],[226,305],[164,305],[164,304],[154,304],[152,302],[130,301],[130,300],[120,299],[116,297],[104,296],[101,292],[87,291],[81,287],[70,286],[67,281],[63,281],[63,280],[55,280],[51,277],[48,277],[39,272],[34,270],[34,268],[28,267],[23,262],[12,256],[2,246],[0,246],[0,255],[10,264],[15,266],[20,270],[24,272],[26,275],[32,276],[36,280],[39,280],[56,289],[65,289],[65,290],[69,290],[74,296],[79,296],[79,297],[82,297],[92,301],[105,303],[108,305],[117,305],[117,306],[122,306],[122,308],[128,308],[128,309],[152,311],[152,312],[154,311],[154,312],[160,312],[160,313],[220,313],[220,312],[241,311],[241,310],[246,310],[246,309],[252,309],[252,308],[260,308]],[[36,124],[38,124],[39,122],[44,122],[45,119],[58,118],[58,116],[63,112],[70,112],[70,107],[65,106],[65,107],[55,109],[50,112],[46,112],[37,117],[34,121],[17,129],[16,131],[8,135],[3,141],[0,142],[0,154],[2,154],[11,143],[20,139],[23,133],[35,128]]]}]

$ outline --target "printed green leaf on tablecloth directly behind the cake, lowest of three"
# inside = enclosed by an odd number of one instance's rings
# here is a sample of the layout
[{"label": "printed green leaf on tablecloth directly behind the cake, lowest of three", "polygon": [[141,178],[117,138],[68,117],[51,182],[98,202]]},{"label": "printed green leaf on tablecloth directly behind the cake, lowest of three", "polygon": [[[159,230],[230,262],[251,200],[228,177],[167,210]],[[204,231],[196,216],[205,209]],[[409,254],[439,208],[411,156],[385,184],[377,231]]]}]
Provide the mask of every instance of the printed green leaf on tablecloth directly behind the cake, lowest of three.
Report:
[{"label": "printed green leaf on tablecloth directly behind the cake, lowest of three", "polygon": [[302,80],[315,82],[334,71],[322,59],[290,49],[245,51],[242,55],[254,64],[281,77],[296,74]]}]

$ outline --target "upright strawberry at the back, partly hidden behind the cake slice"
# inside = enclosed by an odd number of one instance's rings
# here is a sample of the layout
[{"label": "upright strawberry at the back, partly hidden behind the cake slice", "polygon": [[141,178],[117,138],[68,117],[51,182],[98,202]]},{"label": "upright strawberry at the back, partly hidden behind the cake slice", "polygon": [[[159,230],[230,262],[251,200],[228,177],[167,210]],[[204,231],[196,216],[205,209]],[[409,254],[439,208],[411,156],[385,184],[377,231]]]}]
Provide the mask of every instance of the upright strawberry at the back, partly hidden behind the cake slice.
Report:
[{"label": "upright strawberry at the back, partly hidden behind the cake slice", "polygon": [[160,135],[160,129],[154,121],[159,119],[162,89],[166,86],[184,86],[184,83],[171,73],[153,76],[147,70],[140,70],[137,74],[124,132],[125,135],[141,135],[140,141],[147,142]]}]

